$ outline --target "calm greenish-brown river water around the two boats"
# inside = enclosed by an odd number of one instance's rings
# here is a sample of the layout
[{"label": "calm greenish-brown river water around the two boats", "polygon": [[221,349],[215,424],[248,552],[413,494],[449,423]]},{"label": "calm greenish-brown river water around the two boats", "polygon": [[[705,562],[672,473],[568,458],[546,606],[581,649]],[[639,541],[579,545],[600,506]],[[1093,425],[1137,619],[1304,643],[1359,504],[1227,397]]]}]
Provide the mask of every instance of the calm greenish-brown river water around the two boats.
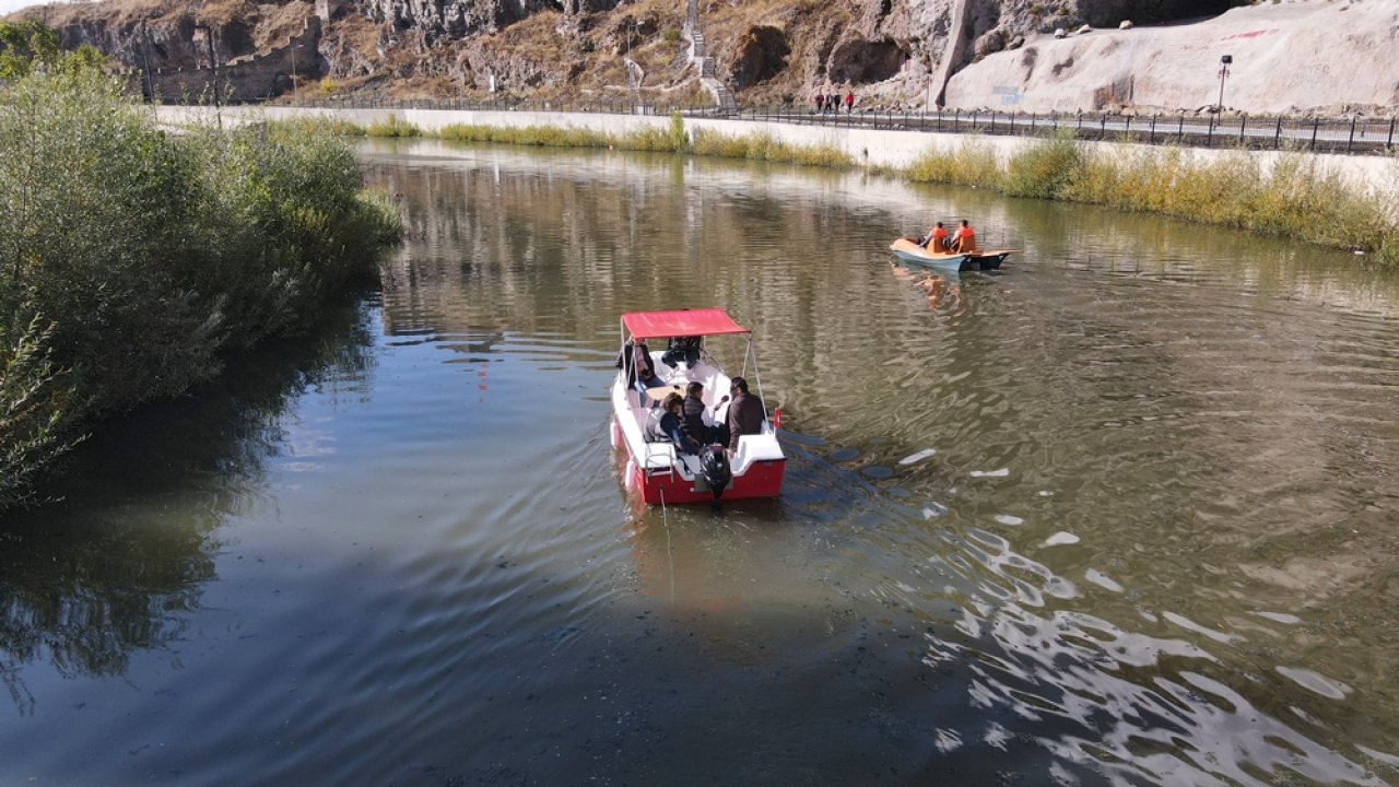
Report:
[{"label": "calm greenish-brown river water around the two boats", "polygon": [[[1399,781],[1399,281],[729,161],[365,148],[409,241],[0,524],[0,784]],[[971,217],[1000,274],[891,265]],[[646,510],[618,314],[720,305],[776,501]]]}]

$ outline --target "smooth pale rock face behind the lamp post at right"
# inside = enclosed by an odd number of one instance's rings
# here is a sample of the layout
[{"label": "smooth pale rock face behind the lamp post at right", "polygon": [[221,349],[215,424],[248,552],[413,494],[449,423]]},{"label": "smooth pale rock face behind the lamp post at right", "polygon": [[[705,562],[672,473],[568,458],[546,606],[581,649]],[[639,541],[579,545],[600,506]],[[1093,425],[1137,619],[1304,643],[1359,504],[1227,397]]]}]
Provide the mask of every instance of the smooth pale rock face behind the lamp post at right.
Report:
[{"label": "smooth pale rock face behind the lamp post at right", "polygon": [[956,73],[949,108],[1028,112],[1199,109],[1342,113],[1399,105],[1399,3],[1305,0],[1188,25],[1032,36]]}]

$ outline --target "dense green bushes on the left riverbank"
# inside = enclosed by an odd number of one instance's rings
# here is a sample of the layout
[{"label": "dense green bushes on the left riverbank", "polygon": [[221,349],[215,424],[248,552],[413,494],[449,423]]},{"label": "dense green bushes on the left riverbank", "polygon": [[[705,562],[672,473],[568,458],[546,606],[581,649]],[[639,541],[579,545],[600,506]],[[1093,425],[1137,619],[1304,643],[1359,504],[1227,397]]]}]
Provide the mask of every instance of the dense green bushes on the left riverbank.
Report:
[{"label": "dense green bushes on the left riverbank", "polygon": [[306,328],[402,234],[294,126],[171,134],[90,62],[0,81],[0,508],[85,429]]}]

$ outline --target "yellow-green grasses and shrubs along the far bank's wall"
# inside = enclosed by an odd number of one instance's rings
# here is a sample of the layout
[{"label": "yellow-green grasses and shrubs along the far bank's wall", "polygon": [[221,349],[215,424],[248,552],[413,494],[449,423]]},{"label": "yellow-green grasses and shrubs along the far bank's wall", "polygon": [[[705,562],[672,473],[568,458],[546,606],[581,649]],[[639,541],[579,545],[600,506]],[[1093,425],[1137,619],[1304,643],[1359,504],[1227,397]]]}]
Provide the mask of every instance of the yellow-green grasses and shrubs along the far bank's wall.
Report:
[{"label": "yellow-green grasses and shrubs along the far bank's wall", "polygon": [[[432,136],[396,119],[368,130],[341,133]],[[856,165],[837,147],[789,144],[761,132],[722,134],[698,127],[691,133],[680,115],[672,116],[669,132],[656,127],[606,133],[560,126],[455,125],[435,136],[504,144],[670,151],[811,167]],[[1265,165],[1265,155],[1276,155],[1270,167]],[[1399,160],[1393,168],[1399,188]],[[1399,265],[1395,195],[1357,190],[1319,158],[1300,151],[1256,154],[1240,150],[1220,158],[1196,155],[1182,147],[1101,148],[1072,136],[1051,136],[1002,160],[986,139],[967,137],[956,147],[929,150],[908,167],[880,171],[914,182],[1160,213],[1356,249],[1381,263]]]}]

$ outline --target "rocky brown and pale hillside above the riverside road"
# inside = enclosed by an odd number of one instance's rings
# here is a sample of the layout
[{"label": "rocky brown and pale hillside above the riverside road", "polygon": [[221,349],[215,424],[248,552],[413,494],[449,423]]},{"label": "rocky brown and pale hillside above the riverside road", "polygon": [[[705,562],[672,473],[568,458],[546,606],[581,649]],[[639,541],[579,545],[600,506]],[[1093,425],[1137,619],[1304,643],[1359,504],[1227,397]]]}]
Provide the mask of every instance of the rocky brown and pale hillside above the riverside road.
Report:
[{"label": "rocky brown and pale hillside above the riverside road", "polygon": [[[817,91],[853,88],[863,108],[1193,109],[1213,102],[1217,49],[1240,53],[1235,101],[1226,104],[1255,112],[1399,104],[1399,59],[1384,56],[1399,50],[1393,0],[1273,0],[1228,11],[1238,4],[99,0],[17,15],[57,28],[64,46],[97,46],[133,84],[162,95],[200,92],[217,76],[239,98],[480,99],[494,88],[495,97],[621,99],[631,74],[645,101],[704,104],[712,98],[701,87],[700,38],[713,76],[750,105],[807,105]],[[1328,15],[1312,25],[1307,15],[1316,13]],[[1370,53],[1374,78],[1308,81],[1309,70],[1357,46]],[[1242,98],[1245,90],[1259,101]]]}]

